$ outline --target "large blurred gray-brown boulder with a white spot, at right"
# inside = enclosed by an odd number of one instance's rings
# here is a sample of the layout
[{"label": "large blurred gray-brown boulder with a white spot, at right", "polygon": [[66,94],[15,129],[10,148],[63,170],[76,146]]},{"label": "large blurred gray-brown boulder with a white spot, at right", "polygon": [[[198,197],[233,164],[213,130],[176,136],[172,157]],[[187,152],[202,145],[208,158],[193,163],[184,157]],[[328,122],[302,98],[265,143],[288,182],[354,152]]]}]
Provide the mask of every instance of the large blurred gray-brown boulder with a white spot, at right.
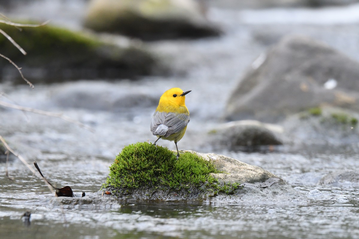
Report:
[{"label": "large blurred gray-brown boulder with a white spot, at right", "polygon": [[278,122],[321,105],[359,111],[358,78],[358,62],[322,42],[291,35],[252,63],[224,118]]}]

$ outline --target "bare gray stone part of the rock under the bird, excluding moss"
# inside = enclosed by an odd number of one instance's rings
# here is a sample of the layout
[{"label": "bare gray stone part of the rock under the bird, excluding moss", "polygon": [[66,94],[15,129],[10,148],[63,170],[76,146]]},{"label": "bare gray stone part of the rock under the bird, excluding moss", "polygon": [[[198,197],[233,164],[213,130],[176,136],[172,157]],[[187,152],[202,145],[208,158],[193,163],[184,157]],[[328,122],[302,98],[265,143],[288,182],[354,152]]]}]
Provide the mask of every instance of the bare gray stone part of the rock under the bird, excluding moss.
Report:
[{"label": "bare gray stone part of the rock under the bird, excluding moss", "polygon": [[[213,197],[202,195],[199,188],[191,188],[190,192],[156,191],[150,188],[138,188],[131,194],[112,193],[110,198],[120,200],[201,200],[207,202],[219,202],[235,204],[238,202],[298,202],[306,203],[306,196],[288,185],[278,176],[256,166],[243,163],[233,158],[214,153],[196,153],[224,173],[213,174],[222,183],[239,182],[243,188],[238,188],[233,195],[219,193]],[[104,190],[111,191],[111,188]],[[115,196],[116,195],[116,196]],[[108,195],[104,195],[108,197]]]}]

